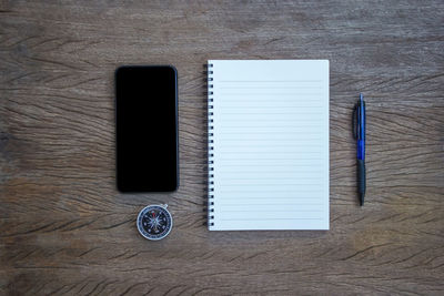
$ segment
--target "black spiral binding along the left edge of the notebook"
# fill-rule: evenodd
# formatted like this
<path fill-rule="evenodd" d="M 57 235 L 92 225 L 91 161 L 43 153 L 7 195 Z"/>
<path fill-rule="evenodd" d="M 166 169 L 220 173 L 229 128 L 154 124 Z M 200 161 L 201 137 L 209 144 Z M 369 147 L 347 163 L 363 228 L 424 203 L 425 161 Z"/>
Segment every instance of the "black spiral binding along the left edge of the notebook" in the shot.
<path fill-rule="evenodd" d="M 213 64 L 206 65 L 208 84 L 208 225 L 214 226 L 214 92 Z"/>

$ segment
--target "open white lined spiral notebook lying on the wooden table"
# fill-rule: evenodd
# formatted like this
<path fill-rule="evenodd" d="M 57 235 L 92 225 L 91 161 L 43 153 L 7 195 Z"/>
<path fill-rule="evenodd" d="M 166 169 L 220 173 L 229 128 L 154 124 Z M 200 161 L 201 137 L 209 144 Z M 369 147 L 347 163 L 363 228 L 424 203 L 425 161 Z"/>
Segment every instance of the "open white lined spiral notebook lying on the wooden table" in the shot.
<path fill-rule="evenodd" d="M 209 229 L 329 229 L 329 61 L 208 62 Z"/>

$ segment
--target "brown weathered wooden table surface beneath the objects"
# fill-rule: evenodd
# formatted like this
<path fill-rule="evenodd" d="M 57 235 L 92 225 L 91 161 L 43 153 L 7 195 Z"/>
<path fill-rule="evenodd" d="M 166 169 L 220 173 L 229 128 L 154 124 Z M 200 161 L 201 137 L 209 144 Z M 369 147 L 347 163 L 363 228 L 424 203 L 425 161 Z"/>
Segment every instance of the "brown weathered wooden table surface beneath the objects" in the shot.
<path fill-rule="evenodd" d="M 236 2 L 0 1 L 0 294 L 443 295 L 444 2 Z M 330 60 L 330 231 L 203 226 L 208 59 Z M 163 63 L 181 186 L 120 194 L 113 71 Z M 175 222 L 161 242 L 135 228 L 152 203 Z"/>

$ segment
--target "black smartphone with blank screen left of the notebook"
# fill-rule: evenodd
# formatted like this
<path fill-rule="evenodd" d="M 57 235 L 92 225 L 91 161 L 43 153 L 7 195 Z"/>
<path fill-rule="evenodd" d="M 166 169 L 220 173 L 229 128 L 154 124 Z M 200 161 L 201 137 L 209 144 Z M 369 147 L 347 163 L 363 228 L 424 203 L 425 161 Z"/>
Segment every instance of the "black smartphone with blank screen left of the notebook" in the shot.
<path fill-rule="evenodd" d="M 171 65 L 115 70 L 117 187 L 171 192 L 179 186 L 178 72 Z"/>

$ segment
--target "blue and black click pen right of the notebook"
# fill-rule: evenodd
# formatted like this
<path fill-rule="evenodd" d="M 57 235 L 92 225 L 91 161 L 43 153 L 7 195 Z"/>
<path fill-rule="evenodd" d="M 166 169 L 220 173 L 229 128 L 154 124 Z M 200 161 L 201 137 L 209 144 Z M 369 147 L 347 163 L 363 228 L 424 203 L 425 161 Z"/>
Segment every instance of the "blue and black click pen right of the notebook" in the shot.
<path fill-rule="evenodd" d="M 353 112 L 353 134 L 356 140 L 357 150 L 357 195 L 360 204 L 363 205 L 365 195 L 365 102 L 362 93 Z"/>

